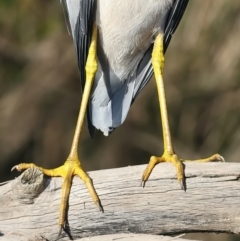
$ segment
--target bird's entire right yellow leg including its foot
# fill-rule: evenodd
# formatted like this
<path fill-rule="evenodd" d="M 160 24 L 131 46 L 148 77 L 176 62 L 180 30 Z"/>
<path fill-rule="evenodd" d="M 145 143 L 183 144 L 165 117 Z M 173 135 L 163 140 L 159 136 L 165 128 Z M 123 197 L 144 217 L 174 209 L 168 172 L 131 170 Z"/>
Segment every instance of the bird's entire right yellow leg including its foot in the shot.
<path fill-rule="evenodd" d="M 163 143 L 164 143 L 164 153 L 161 157 L 152 156 L 150 158 L 149 164 L 145 169 L 141 186 L 145 186 L 146 181 L 148 180 L 153 168 L 156 164 L 160 162 L 172 162 L 177 171 L 177 179 L 180 183 L 180 186 L 183 190 L 186 189 L 185 183 L 185 175 L 183 169 L 183 162 L 187 162 L 190 160 L 179 159 L 175 154 L 171 133 L 168 123 L 168 113 L 167 113 L 167 105 L 166 105 L 166 97 L 164 91 L 164 83 L 163 83 L 163 68 L 164 68 L 164 49 L 163 49 L 163 34 L 159 34 L 154 42 L 153 52 L 152 52 L 152 66 L 155 74 L 157 90 L 158 90 L 158 98 L 160 104 L 160 113 L 162 120 L 162 129 L 163 129 Z M 224 158 L 219 154 L 214 154 L 211 157 L 205 159 L 195 160 L 198 162 L 211 162 L 211 161 L 224 161 Z"/>

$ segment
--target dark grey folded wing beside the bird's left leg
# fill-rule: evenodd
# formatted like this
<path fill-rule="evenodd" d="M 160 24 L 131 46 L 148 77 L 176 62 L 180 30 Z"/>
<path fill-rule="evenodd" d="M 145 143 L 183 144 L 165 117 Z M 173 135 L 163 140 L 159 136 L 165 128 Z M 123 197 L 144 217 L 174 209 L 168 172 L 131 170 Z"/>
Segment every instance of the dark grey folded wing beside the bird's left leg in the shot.
<path fill-rule="evenodd" d="M 85 65 L 94 19 L 95 0 L 60 0 L 60 2 L 63 7 L 68 31 L 73 37 L 83 90 L 86 78 Z M 89 109 L 87 110 L 87 121 L 90 135 L 93 136 L 95 128 L 89 117 Z"/>

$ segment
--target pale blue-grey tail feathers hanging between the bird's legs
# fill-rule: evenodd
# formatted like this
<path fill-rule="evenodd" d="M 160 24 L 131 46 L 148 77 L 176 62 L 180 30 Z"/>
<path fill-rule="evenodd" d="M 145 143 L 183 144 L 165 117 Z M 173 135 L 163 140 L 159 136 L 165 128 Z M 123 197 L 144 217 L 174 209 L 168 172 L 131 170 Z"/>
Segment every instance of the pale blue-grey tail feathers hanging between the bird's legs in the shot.
<path fill-rule="evenodd" d="M 124 122 L 133 101 L 149 82 L 153 74 L 151 52 L 152 46 L 138 64 L 135 73 L 125 80 L 119 80 L 112 70 L 102 70 L 99 62 L 88 106 L 88 120 L 105 136 Z"/>

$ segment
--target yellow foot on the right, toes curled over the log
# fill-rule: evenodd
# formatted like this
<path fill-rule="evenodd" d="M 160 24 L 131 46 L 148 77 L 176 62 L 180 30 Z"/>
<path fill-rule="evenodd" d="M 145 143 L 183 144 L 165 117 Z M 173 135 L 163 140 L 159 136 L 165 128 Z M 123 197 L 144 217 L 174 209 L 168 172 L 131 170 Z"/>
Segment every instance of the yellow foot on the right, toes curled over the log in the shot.
<path fill-rule="evenodd" d="M 180 183 L 181 189 L 186 190 L 185 186 L 185 175 L 184 175 L 184 169 L 183 169 L 183 162 L 190 162 L 191 160 L 183 160 L 179 159 L 176 154 L 169 154 L 164 153 L 161 157 L 152 156 L 150 158 L 150 161 L 147 165 L 147 168 L 143 172 L 141 186 L 145 186 L 146 181 L 148 180 L 153 168 L 160 162 L 172 162 L 173 165 L 176 168 L 177 171 L 177 179 Z M 205 158 L 205 159 L 198 159 L 193 160 L 195 162 L 213 162 L 213 161 L 224 161 L 224 158 L 220 156 L 219 154 L 214 154 L 211 157 Z"/>

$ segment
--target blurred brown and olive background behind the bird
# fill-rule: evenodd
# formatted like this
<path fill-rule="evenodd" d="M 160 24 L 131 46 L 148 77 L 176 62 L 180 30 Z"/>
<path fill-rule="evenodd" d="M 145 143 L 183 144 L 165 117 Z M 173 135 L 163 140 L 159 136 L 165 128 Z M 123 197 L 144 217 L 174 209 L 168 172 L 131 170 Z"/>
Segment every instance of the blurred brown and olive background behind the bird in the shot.
<path fill-rule="evenodd" d="M 195 159 L 218 152 L 238 162 L 240 1 L 190 1 L 167 50 L 164 74 L 178 155 Z M 0 182 L 16 176 L 10 169 L 20 162 L 52 168 L 65 161 L 80 89 L 59 1 L 0 0 Z M 96 131 L 91 139 L 85 125 L 79 150 L 87 171 L 146 164 L 162 151 L 154 80 L 109 137 Z M 237 235 L 197 237 L 240 240 Z"/>

